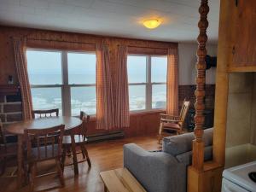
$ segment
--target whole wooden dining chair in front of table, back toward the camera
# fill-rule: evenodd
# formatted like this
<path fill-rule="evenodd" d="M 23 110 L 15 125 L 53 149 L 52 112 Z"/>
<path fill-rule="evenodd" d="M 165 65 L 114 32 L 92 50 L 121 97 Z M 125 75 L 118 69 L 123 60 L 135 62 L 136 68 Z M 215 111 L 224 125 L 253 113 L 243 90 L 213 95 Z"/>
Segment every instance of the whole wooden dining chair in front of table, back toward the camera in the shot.
<path fill-rule="evenodd" d="M 45 129 L 26 129 L 25 139 L 27 148 L 27 160 L 30 175 L 30 191 L 34 189 L 36 177 L 58 174 L 61 186 L 64 186 L 63 172 L 61 169 L 61 150 L 62 139 L 64 135 L 65 125 L 57 125 Z M 56 172 L 45 173 L 37 176 L 37 166 L 39 162 L 45 160 L 55 160 Z"/>

